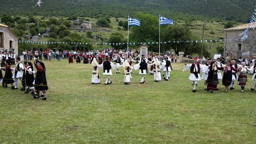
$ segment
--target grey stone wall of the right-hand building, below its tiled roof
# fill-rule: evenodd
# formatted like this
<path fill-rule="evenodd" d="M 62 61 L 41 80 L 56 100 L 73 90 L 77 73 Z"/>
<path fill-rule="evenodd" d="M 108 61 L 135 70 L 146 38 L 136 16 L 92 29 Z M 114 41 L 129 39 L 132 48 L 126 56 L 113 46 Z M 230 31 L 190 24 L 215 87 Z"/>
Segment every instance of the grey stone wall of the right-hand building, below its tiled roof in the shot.
<path fill-rule="evenodd" d="M 256 56 L 256 30 L 249 29 L 248 39 L 244 42 L 238 41 L 241 36 L 238 36 L 244 32 L 244 30 L 230 30 L 226 31 L 226 54 L 232 53 L 232 58 L 236 58 L 238 60 L 239 56 L 242 56 L 244 52 L 250 52 L 250 57 Z M 235 39 L 237 39 L 235 41 Z M 232 40 L 232 41 L 231 41 Z M 241 50 L 238 50 L 238 44 L 241 44 Z M 246 56 L 242 56 L 242 58 L 246 58 Z M 225 58 L 226 60 L 226 58 Z"/>

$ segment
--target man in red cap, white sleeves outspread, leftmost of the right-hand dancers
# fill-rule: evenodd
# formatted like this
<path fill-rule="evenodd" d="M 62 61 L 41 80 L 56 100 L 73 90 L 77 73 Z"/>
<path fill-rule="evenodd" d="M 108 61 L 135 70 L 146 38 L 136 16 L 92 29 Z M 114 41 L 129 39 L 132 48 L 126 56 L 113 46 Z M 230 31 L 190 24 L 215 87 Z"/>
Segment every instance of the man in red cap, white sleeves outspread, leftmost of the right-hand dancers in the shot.
<path fill-rule="evenodd" d="M 183 69 L 183 72 L 190 69 L 190 76 L 189 80 L 192 81 L 192 86 L 194 87 L 192 92 L 196 92 L 196 86 L 198 84 L 198 81 L 201 80 L 200 77 L 200 71 L 202 73 L 206 73 L 208 71 L 208 66 L 203 66 L 201 64 L 198 64 L 197 58 L 194 58 L 194 63 L 193 64 L 186 64 Z"/>

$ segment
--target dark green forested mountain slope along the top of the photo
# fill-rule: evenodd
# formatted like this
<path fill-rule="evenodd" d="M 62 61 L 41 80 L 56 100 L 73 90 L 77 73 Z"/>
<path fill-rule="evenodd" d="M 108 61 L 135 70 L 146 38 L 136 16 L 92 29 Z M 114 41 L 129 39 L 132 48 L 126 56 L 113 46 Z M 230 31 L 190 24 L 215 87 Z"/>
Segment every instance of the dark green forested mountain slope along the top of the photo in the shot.
<path fill-rule="evenodd" d="M 5 0 L 0 13 L 12 15 L 127 17 L 140 11 L 173 19 L 220 18 L 248 22 L 254 0 Z"/>

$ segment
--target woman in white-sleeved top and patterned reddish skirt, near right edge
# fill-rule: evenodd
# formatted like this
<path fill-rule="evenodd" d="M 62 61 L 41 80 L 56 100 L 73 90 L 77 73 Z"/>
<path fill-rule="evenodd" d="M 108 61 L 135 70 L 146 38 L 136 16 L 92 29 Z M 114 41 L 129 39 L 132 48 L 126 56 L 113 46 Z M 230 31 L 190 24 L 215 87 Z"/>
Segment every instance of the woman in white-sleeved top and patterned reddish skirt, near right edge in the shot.
<path fill-rule="evenodd" d="M 247 75 L 246 75 L 247 71 L 250 71 L 250 66 L 246 67 L 245 62 L 242 62 L 242 66 L 238 68 L 239 76 L 237 81 L 237 84 L 242 88 L 241 92 L 244 92 L 244 87 L 247 82 Z"/>

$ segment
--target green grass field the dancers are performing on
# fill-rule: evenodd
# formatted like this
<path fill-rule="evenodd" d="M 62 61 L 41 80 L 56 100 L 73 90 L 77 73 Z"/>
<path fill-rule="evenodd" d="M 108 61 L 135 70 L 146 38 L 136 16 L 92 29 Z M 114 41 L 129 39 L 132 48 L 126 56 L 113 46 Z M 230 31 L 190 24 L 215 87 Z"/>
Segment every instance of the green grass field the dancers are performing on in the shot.
<path fill-rule="evenodd" d="M 47 100 L 24 91 L 0 88 L 1 144 L 255 144 L 256 95 L 252 75 L 245 92 L 216 94 L 203 80 L 192 93 L 189 70 L 172 64 L 169 81 L 133 70 L 131 83 L 115 71 L 111 85 L 100 70 L 101 84 L 91 84 L 90 64 L 49 62 Z M 14 67 L 14 66 L 12 66 Z M 4 71 L 2 71 L 4 74 Z M 21 82 L 19 82 L 19 89 Z"/>

